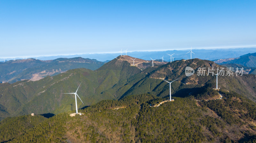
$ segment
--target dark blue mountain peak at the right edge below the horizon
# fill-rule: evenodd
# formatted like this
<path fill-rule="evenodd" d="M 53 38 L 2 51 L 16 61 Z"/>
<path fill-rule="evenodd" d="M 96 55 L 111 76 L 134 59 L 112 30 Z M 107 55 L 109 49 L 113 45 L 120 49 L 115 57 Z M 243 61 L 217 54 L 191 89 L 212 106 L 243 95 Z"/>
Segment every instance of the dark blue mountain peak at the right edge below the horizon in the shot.
<path fill-rule="evenodd" d="M 229 58 L 229 59 L 220 59 L 214 60 L 215 63 L 218 64 L 240 64 L 246 67 L 254 67 L 256 68 L 256 53 L 249 53 L 242 55 L 238 58 Z"/>

